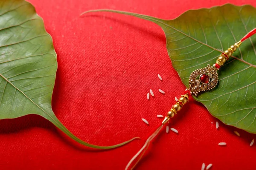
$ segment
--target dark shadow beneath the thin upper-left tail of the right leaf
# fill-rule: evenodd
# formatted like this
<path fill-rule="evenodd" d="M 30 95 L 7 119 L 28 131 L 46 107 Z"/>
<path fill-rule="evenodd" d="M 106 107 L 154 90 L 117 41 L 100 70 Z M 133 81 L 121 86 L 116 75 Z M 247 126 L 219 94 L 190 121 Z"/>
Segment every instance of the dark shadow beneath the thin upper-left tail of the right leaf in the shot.
<path fill-rule="evenodd" d="M 166 43 L 166 37 L 165 37 L 164 33 L 162 33 L 162 34 L 159 34 L 159 33 L 155 34 L 153 31 L 145 30 L 141 26 L 134 25 L 132 23 L 128 23 L 126 21 L 123 21 L 123 20 L 120 20 L 120 19 L 116 19 L 116 18 L 112 18 L 112 17 L 108 17 L 108 16 L 104 16 L 104 15 L 87 14 L 86 16 L 83 16 L 83 18 L 85 18 L 85 17 L 98 17 L 98 18 L 102 18 L 104 20 L 111 20 L 111 21 L 114 21 L 116 23 L 121 23 L 124 26 L 133 28 L 134 30 L 138 31 L 140 34 L 146 34 L 147 36 L 150 35 L 151 37 L 154 37 L 156 40 L 160 40 L 160 41 Z M 154 24 L 154 23 L 152 23 L 152 24 Z"/>

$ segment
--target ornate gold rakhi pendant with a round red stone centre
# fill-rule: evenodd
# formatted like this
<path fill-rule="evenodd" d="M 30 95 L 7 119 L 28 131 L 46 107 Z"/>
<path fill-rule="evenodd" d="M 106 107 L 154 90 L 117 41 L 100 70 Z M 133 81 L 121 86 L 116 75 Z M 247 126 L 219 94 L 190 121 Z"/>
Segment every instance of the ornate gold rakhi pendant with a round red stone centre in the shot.
<path fill-rule="evenodd" d="M 201 91 L 214 88 L 218 83 L 218 73 L 215 67 L 209 64 L 207 67 L 197 69 L 190 74 L 189 88 L 191 93 L 198 95 Z"/>

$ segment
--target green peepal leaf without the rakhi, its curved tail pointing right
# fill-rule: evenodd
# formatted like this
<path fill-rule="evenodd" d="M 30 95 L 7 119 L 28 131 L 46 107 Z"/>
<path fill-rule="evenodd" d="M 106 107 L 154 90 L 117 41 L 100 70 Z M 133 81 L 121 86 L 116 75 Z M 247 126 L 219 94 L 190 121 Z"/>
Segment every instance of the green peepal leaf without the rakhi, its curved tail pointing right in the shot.
<path fill-rule="evenodd" d="M 88 144 L 74 136 L 52 111 L 52 91 L 57 60 L 52 37 L 35 8 L 24 0 L 0 3 L 0 119 L 37 114 L 48 119 L 70 138 L 88 147 L 113 146 Z M 135 139 L 135 138 L 134 138 Z"/>

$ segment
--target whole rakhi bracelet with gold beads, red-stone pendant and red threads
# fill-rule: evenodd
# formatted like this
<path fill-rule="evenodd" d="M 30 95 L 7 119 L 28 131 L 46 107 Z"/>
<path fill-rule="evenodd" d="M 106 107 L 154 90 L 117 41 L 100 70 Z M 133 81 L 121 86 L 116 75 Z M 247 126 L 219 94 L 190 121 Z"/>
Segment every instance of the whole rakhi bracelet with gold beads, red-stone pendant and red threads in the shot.
<path fill-rule="evenodd" d="M 172 106 L 171 110 L 168 111 L 167 115 L 163 119 L 163 122 L 157 126 L 156 130 L 147 138 L 143 147 L 134 155 L 134 157 L 128 162 L 125 167 L 125 170 L 133 169 L 142 159 L 145 151 L 148 149 L 149 144 L 151 144 L 152 140 L 160 133 L 163 129 L 163 126 L 166 125 L 167 122 L 171 118 L 173 118 L 177 112 L 183 108 L 189 102 L 189 96 L 195 95 L 197 96 L 200 92 L 211 90 L 215 88 L 218 84 L 218 70 L 227 62 L 227 60 L 232 56 L 232 54 L 239 48 L 241 43 L 248 39 L 253 34 L 256 34 L 256 28 L 246 34 L 239 42 L 236 42 L 234 45 L 231 45 L 226 51 L 224 51 L 217 59 L 216 63 L 211 65 L 207 65 L 204 68 L 199 68 L 193 71 L 189 77 L 189 88 L 186 88 L 185 93 L 180 96 L 179 99 L 175 98 L 175 104 Z"/>

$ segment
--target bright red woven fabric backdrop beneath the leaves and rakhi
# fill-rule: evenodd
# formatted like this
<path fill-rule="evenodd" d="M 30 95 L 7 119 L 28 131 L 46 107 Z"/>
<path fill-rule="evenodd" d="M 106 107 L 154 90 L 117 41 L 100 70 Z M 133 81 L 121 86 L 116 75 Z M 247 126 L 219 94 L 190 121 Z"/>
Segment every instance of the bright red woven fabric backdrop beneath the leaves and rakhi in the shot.
<path fill-rule="evenodd" d="M 255 0 L 30 0 L 52 35 L 58 71 L 52 99 L 55 114 L 76 136 L 91 144 L 112 145 L 145 137 L 160 123 L 184 85 L 172 68 L 162 29 L 154 23 L 113 13 L 81 12 L 111 8 L 173 19 L 184 11 Z M 161 82 L 157 74 L 163 77 Z M 160 94 L 161 88 L 166 92 Z M 149 89 L 155 97 L 148 101 Z M 191 101 L 175 118 L 179 134 L 163 132 L 139 170 L 255 169 L 255 135 L 216 121 Z M 141 118 L 150 123 L 145 125 Z M 122 170 L 143 145 L 137 140 L 114 150 L 95 152 L 67 138 L 50 122 L 29 115 L 0 121 L 0 169 Z M 227 142 L 226 147 L 218 146 Z"/>

